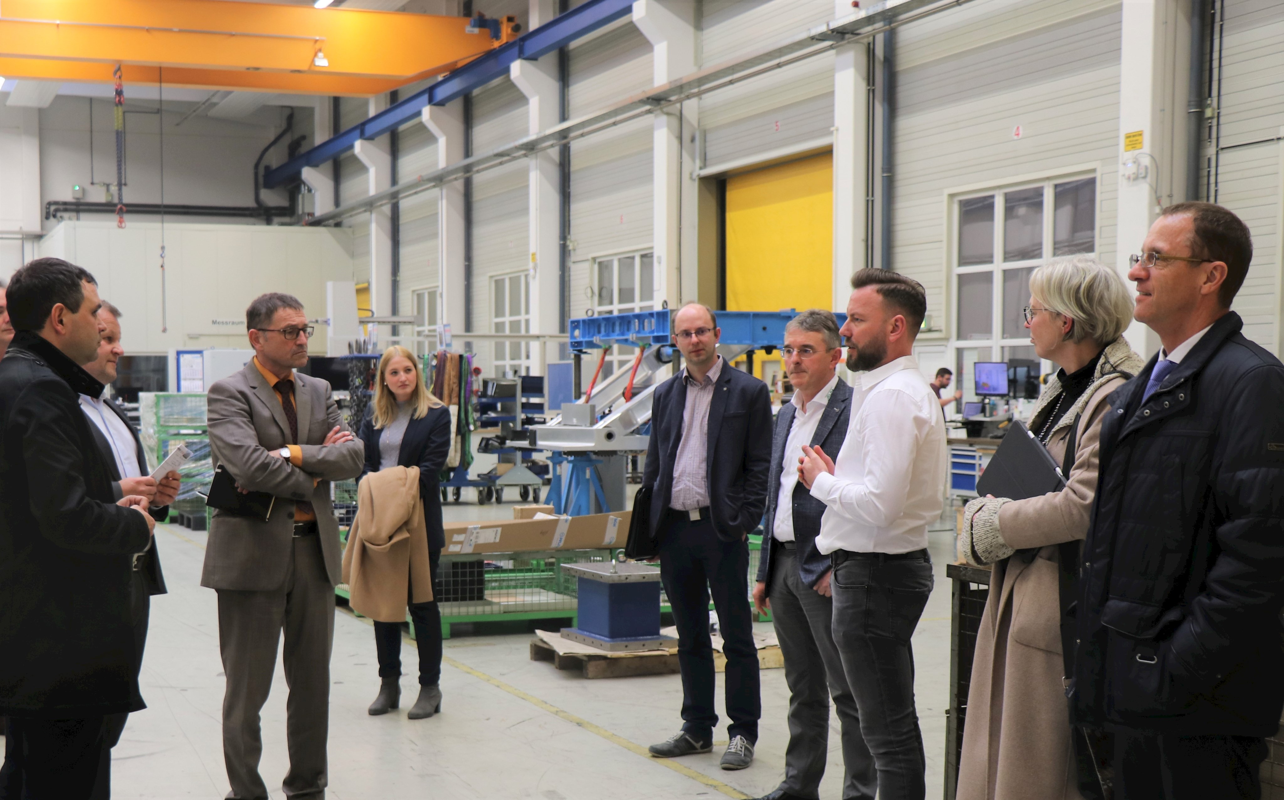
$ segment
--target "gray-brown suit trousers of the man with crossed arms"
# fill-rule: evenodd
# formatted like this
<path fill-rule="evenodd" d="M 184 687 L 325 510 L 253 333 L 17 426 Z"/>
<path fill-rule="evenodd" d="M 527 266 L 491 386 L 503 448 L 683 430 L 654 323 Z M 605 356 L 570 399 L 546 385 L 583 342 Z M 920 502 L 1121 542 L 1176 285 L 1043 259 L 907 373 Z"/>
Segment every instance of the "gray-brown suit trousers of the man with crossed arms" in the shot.
<path fill-rule="evenodd" d="M 263 754 L 259 711 L 272 688 L 281 630 L 290 687 L 285 705 L 290 772 L 281 787 L 286 797 L 325 797 L 334 586 L 315 535 L 294 539 L 294 562 L 280 589 L 218 589 L 218 646 L 227 675 L 223 761 L 232 788 L 227 797 L 232 800 L 267 800 L 258 774 Z"/>

